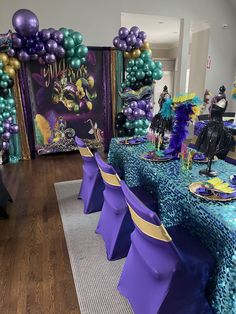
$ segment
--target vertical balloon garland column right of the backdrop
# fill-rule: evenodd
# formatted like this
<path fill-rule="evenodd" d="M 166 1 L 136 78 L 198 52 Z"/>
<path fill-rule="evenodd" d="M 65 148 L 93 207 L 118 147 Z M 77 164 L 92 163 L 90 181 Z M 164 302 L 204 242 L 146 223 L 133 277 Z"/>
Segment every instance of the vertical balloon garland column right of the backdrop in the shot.
<path fill-rule="evenodd" d="M 116 116 L 118 136 L 146 135 L 153 118 L 152 84 L 163 76 L 161 62 L 152 60 L 147 34 L 137 26 L 121 27 L 113 45 L 127 59 L 126 77 L 120 96 L 125 101 L 123 113 Z"/>

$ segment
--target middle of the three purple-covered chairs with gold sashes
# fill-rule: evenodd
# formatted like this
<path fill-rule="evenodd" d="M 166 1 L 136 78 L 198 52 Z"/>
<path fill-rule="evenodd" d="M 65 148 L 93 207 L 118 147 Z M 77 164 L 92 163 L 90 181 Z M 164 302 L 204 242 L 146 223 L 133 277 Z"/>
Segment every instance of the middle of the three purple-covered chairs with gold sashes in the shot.
<path fill-rule="evenodd" d="M 104 181 L 104 203 L 97 225 L 96 233 L 101 234 L 106 246 L 108 260 L 116 260 L 127 256 L 130 248 L 130 234 L 134 224 L 120 186 L 120 178 L 115 169 L 104 162 L 98 153 L 95 153 L 98 167 Z M 143 202 L 157 209 L 158 204 L 153 197 L 141 187 L 132 188 Z"/>

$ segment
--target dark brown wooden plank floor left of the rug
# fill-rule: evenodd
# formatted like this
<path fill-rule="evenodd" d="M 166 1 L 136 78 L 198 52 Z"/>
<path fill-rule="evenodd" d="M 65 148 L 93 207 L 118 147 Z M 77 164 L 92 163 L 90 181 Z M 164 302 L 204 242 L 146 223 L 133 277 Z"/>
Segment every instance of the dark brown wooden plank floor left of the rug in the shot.
<path fill-rule="evenodd" d="M 0 167 L 14 200 L 0 221 L 0 313 L 80 313 L 53 186 L 81 178 L 79 153 Z"/>

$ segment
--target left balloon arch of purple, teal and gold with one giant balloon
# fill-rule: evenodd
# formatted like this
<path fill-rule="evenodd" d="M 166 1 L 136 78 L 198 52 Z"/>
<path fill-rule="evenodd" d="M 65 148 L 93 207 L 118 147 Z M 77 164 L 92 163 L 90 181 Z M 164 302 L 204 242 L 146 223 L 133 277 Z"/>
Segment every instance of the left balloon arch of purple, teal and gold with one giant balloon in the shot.
<path fill-rule="evenodd" d="M 12 25 L 15 33 L 0 35 L 0 151 L 9 149 L 11 135 L 18 132 L 11 88 L 20 62 L 32 60 L 45 66 L 64 58 L 72 69 L 79 69 L 88 54 L 80 32 L 64 27 L 39 31 L 38 18 L 30 10 L 16 11 Z"/>

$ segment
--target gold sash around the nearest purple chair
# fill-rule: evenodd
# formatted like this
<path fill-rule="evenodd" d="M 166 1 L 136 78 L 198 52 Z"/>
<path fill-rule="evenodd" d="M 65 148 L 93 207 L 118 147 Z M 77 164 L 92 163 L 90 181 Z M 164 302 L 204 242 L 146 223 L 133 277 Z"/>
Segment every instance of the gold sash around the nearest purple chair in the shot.
<path fill-rule="evenodd" d="M 160 241 L 164 241 L 164 242 L 172 241 L 170 235 L 168 234 L 163 224 L 161 224 L 160 226 L 156 226 L 144 220 L 142 217 L 136 214 L 136 212 L 133 210 L 133 208 L 129 204 L 128 204 L 128 207 L 129 207 L 129 211 L 130 211 L 133 222 L 144 234 Z"/>

